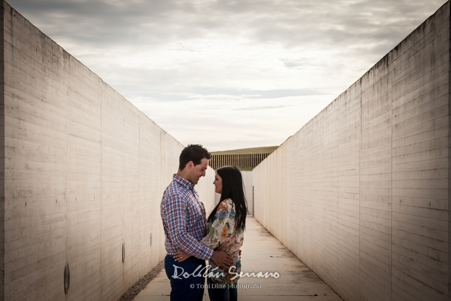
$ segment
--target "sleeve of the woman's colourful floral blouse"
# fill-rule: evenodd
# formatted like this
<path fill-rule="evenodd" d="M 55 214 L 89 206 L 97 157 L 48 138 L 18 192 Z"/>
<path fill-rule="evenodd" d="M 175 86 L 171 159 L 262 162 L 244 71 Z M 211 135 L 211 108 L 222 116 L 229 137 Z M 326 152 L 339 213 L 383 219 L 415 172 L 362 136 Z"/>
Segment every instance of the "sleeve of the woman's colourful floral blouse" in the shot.
<path fill-rule="evenodd" d="M 207 229 L 207 235 L 200 243 L 214 250 L 230 240 L 235 229 L 235 214 L 232 201 L 223 200 L 216 210 L 213 223 Z"/>

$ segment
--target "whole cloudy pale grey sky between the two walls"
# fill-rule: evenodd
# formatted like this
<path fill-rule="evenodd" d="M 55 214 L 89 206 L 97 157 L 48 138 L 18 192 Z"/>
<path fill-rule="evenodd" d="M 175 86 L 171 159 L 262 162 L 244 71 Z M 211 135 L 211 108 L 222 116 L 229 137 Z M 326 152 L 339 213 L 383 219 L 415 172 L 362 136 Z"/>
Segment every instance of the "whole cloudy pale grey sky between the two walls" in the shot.
<path fill-rule="evenodd" d="M 182 144 L 279 145 L 443 0 L 7 0 Z"/>

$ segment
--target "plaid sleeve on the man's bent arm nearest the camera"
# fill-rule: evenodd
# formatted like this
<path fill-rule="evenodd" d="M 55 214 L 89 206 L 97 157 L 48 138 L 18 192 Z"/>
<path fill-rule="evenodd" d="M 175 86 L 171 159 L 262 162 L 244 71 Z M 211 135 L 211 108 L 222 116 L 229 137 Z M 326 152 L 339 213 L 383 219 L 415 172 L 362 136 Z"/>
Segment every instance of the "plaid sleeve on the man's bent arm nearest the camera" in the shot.
<path fill-rule="evenodd" d="M 172 241 L 186 253 L 208 260 L 213 250 L 202 245 L 186 231 L 186 205 L 179 194 L 166 196 L 166 220 L 168 221 L 168 234 Z"/>

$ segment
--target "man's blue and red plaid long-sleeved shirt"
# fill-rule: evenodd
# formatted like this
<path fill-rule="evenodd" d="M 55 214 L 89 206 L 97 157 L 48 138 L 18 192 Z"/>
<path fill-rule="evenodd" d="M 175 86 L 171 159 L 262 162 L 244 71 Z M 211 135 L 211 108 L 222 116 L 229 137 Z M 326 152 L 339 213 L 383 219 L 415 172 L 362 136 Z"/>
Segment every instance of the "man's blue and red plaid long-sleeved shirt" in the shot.
<path fill-rule="evenodd" d="M 160 213 L 167 254 L 174 255 L 180 247 L 194 257 L 210 259 L 213 250 L 199 242 L 206 232 L 205 208 L 191 182 L 174 174 L 163 193 Z"/>

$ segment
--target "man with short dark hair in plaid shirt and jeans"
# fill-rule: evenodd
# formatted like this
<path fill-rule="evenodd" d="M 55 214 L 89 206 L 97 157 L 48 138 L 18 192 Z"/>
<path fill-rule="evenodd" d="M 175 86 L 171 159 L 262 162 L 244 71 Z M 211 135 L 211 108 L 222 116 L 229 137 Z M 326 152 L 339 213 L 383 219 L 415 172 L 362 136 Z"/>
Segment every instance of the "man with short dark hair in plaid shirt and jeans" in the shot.
<path fill-rule="evenodd" d="M 172 182 L 161 200 L 160 213 L 167 252 L 164 268 L 171 282 L 171 301 L 202 300 L 205 278 L 198 273 L 205 271 L 205 260 L 222 266 L 234 264 L 229 253 L 213 251 L 199 243 L 206 234 L 205 208 L 194 185 L 205 176 L 209 159 L 210 154 L 202 145 L 186 146 L 180 154 L 177 174 L 172 176 Z M 175 261 L 173 255 L 179 248 L 192 256 L 183 262 Z M 185 275 L 189 276 L 185 278 Z"/>

